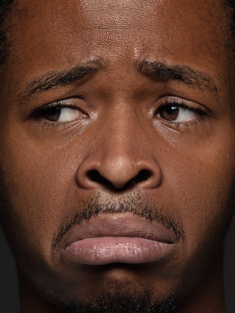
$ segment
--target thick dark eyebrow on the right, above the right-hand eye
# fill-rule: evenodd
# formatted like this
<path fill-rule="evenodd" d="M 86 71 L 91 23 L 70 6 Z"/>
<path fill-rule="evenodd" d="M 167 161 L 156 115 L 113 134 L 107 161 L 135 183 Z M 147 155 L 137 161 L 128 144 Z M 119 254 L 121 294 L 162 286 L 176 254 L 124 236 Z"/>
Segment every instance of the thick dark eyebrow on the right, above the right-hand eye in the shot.
<path fill-rule="evenodd" d="M 163 81 L 177 80 L 193 88 L 217 93 L 216 84 L 208 74 L 187 65 L 168 65 L 144 58 L 136 63 L 136 67 L 143 75 Z"/>

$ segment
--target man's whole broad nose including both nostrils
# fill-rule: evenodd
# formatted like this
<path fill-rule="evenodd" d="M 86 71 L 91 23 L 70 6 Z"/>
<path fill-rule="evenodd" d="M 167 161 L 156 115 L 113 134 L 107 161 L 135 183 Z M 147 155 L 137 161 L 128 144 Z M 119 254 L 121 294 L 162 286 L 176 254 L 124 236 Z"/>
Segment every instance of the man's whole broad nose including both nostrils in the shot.
<path fill-rule="evenodd" d="M 145 148 L 142 139 L 126 127 L 104 130 L 76 170 L 78 186 L 85 189 L 157 187 L 162 179 L 161 169 L 157 160 L 150 156 L 149 143 Z"/>

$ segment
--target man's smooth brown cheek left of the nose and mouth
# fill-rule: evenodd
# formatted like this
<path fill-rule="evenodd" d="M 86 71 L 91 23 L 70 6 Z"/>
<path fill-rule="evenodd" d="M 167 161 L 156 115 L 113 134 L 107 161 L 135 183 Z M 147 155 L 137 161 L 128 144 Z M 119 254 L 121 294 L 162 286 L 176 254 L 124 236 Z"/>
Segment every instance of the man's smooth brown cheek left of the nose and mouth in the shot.
<path fill-rule="evenodd" d="M 20 257 L 34 251 L 35 258 L 49 261 L 53 234 L 74 205 L 75 162 L 65 152 L 28 142 L 8 144 L 0 156 L 1 218 L 12 250 Z"/>

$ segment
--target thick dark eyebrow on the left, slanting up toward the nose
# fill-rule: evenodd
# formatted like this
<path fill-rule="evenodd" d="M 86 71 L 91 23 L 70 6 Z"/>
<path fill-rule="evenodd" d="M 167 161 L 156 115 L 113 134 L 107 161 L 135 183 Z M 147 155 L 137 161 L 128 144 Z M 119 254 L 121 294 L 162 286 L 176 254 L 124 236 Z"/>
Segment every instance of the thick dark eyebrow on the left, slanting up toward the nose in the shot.
<path fill-rule="evenodd" d="M 83 80 L 101 68 L 103 68 L 103 61 L 101 59 L 92 59 L 70 69 L 48 71 L 32 78 L 27 83 L 24 91 L 20 94 L 20 100 L 25 100 L 38 92 L 49 90 L 59 85 Z"/>

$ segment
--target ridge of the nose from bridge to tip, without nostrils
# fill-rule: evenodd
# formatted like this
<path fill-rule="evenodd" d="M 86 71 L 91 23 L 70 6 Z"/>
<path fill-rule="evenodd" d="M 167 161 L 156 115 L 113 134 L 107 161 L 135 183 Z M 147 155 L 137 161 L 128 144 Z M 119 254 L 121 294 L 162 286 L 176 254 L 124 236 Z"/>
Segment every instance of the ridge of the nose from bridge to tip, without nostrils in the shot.
<path fill-rule="evenodd" d="M 122 187 L 138 175 L 144 166 L 143 132 L 138 116 L 128 108 L 117 108 L 110 114 L 99 146 L 99 173 L 115 187 Z"/>

